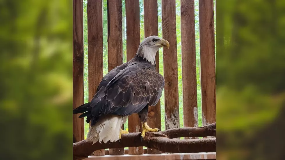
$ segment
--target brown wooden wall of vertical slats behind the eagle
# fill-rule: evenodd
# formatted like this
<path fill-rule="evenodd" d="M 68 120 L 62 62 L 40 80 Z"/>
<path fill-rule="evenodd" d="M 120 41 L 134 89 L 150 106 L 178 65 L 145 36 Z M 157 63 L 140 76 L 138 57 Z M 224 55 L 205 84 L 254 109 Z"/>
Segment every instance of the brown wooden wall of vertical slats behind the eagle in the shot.
<path fill-rule="evenodd" d="M 157 5 L 157 0 L 144 0 L 145 37 L 158 35 Z M 125 6 L 128 61 L 136 54 L 140 44 L 139 0 L 125 0 Z M 181 0 L 184 127 L 198 126 L 198 116 L 202 116 L 203 126 L 216 121 L 213 7 L 213 0 L 199 0 L 202 115 L 198 115 L 194 1 Z M 103 78 L 102 0 L 88 0 L 87 9 L 88 79 L 89 100 L 91 100 Z M 166 129 L 179 127 L 175 12 L 175 0 L 162 0 L 162 38 L 169 41 L 170 48 L 163 50 L 163 53 L 157 53 L 156 70 L 159 71 L 158 54 L 163 54 Z M 108 0 L 108 70 L 110 71 L 122 63 L 122 0 Z M 83 102 L 83 1 L 73 0 L 73 108 L 82 105 Z M 148 125 L 151 128 L 161 130 L 160 102 L 149 110 L 148 116 Z M 142 124 L 137 114 L 129 116 L 128 125 L 129 132 L 140 132 L 142 130 Z M 73 115 L 73 134 L 78 141 L 84 139 L 84 119 L 79 119 L 78 115 Z M 145 153 L 160 154 L 161 152 L 151 148 L 144 150 L 143 147 L 133 147 L 129 150 L 124 150 L 124 148 L 99 150 L 94 155 L 135 155 Z M 215 156 L 211 159 L 215 159 Z"/>

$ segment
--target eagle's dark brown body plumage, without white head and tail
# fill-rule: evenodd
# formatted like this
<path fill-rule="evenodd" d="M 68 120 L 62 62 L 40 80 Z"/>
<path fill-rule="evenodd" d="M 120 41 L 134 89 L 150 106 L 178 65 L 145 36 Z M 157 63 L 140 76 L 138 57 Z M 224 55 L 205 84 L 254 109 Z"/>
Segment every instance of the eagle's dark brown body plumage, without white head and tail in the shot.
<path fill-rule="evenodd" d="M 142 122 L 147 120 L 148 106 L 154 106 L 161 97 L 164 78 L 155 66 L 135 56 L 111 70 L 100 82 L 90 103 L 73 112 L 85 113 L 87 123 L 95 125 L 100 116 L 114 114 L 128 116 L 138 113 Z"/>

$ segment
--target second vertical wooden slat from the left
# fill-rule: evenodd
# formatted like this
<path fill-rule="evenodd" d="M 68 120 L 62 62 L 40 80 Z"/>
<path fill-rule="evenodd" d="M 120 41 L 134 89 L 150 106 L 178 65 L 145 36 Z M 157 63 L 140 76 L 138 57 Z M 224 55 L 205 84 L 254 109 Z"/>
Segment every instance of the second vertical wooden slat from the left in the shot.
<path fill-rule="evenodd" d="M 88 89 L 89 101 L 103 78 L 103 20 L 102 0 L 87 1 L 88 20 Z M 105 155 L 105 150 L 97 150 L 94 155 Z"/>

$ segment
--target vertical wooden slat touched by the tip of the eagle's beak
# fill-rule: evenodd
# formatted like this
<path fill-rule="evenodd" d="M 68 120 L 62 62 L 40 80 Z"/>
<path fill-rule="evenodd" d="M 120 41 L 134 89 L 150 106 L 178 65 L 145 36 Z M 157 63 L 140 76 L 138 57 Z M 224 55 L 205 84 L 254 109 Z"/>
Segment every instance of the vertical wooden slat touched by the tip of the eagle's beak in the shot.
<path fill-rule="evenodd" d="M 163 49 L 165 79 L 165 129 L 179 127 L 176 13 L 174 0 L 162 0 L 162 35 L 170 47 Z"/>

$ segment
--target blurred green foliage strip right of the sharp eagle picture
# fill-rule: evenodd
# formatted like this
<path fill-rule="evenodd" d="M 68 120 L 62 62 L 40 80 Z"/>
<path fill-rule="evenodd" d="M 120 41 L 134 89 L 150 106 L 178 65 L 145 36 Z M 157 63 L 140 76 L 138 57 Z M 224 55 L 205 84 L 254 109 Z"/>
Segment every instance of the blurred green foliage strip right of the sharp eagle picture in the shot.
<path fill-rule="evenodd" d="M 284 159 L 285 1 L 217 3 L 217 159 Z"/>

